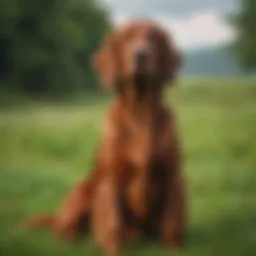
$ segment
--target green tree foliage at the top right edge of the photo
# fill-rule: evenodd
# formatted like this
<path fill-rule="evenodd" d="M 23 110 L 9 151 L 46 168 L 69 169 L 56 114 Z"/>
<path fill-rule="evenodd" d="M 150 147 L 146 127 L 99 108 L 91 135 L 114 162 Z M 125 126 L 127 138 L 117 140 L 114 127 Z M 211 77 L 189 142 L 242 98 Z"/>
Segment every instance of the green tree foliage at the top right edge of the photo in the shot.
<path fill-rule="evenodd" d="M 235 49 L 242 68 L 250 71 L 256 68 L 256 1 L 243 0 L 242 3 L 241 13 L 233 17 L 239 31 Z"/>

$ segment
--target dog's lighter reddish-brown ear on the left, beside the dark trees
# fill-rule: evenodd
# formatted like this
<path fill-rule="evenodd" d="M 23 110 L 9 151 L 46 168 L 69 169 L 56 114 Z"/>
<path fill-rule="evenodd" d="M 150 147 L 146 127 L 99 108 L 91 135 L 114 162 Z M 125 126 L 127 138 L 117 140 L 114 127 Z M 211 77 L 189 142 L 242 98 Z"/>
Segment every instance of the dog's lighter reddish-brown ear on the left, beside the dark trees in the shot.
<path fill-rule="evenodd" d="M 93 54 L 92 66 L 99 74 L 100 81 L 105 88 L 111 88 L 117 80 L 116 36 L 112 33 L 106 36 L 102 47 Z"/>

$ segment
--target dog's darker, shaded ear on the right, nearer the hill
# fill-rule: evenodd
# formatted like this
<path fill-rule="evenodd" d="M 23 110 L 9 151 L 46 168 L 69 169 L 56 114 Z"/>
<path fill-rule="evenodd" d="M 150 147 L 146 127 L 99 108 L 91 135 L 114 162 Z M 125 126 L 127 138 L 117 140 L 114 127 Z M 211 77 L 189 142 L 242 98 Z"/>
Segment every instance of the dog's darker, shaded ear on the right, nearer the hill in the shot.
<path fill-rule="evenodd" d="M 182 65 L 182 56 L 172 38 L 166 32 L 160 38 L 160 74 L 164 83 L 173 82 Z"/>

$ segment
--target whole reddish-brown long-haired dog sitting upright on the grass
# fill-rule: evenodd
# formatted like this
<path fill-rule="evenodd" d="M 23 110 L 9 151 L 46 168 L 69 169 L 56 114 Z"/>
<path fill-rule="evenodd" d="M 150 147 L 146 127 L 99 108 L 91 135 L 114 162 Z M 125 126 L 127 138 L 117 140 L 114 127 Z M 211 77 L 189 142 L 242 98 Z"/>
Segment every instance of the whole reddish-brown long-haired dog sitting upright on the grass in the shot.
<path fill-rule="evenodd" d="M 109 255 L 142 237 L 180 249 L 187 229 L 186 182 L 175 115 L 163 94 L 175 83 L 181 55 L 158 24 L 134 20 L 106 36 L 92 64 L 103 87 L 116 95 L 94 169 L 59 213 L 26 226 L 51 227 L 66 239 L 90 231 Z"/>

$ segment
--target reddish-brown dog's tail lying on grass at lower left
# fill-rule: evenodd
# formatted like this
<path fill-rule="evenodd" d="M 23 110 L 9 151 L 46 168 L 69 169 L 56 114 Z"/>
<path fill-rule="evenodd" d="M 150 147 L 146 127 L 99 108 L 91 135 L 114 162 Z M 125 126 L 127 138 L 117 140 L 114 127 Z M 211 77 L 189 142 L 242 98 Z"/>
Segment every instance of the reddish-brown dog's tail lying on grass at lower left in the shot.
<path fill-rule="evenodd" d="M 41 215 L 30 218 L 20 224 L 25 229 L 52 229 L 56 223 L 56 216 Z"/>

